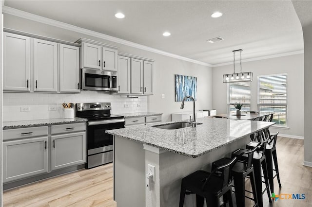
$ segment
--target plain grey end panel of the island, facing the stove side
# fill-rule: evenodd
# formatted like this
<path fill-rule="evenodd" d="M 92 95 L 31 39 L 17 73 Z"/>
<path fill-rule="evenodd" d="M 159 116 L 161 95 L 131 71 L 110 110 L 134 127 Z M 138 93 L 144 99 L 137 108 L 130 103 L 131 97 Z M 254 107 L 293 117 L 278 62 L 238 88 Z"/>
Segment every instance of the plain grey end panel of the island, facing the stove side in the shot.
<path fill-rule="evenodd" d="M 117 207 L 145 207 L 143 144 L 115 136 L 114 200 Z"/>

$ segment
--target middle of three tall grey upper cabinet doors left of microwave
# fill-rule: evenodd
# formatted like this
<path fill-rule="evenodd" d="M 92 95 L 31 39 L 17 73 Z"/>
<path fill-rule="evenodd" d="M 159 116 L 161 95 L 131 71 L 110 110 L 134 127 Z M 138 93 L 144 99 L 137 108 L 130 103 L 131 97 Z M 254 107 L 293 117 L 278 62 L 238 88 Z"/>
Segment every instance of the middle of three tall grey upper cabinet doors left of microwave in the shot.
<path fill-rule="evenodd" d="M 34 91 L 57 92 L 58 43 L 34 39 Z"/>

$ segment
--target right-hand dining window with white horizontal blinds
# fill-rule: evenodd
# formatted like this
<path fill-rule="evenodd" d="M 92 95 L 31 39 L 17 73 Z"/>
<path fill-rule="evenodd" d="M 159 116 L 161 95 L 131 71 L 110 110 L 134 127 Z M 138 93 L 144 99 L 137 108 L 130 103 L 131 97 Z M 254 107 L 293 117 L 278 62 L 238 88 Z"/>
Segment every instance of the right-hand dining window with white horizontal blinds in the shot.
<path fill-rule="evenodd" d="M 276 124 L 287 124 L 287 74 L 258 76 L 258 109 L 274 113 Z"/>

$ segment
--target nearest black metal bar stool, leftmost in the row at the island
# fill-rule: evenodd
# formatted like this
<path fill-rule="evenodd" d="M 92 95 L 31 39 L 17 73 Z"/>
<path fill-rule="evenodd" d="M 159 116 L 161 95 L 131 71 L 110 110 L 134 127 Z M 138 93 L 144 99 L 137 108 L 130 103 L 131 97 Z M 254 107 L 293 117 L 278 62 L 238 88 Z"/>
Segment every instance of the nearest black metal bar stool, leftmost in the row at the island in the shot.
<path fill-rule="evenodd" d="M 196 194 L 196 207 L 203 207 L 204 198 L 206 198 L 207 207 L 219 207 L 222 195 L 224 205 L 229 202 L 229 206 L 233 207 L 231 169 L 236 160 L 237 158 L 234 157 L 211 173 L 196 171 L 182 178 L 179 207 L 183 207 L 185 194 L 191 193 Z M 218 171 L 224 173 L 219 174 Z"/>

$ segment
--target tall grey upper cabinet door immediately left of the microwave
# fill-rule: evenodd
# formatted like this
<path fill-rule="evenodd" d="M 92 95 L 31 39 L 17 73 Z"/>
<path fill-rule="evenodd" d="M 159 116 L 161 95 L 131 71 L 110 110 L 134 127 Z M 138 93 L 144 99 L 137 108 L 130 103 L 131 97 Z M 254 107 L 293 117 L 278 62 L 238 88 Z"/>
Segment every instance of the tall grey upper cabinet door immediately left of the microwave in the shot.
<path fill-rule="evenodd" d="M 59 45 L 59 91 L 79 93 L 79 48 Z"/>

